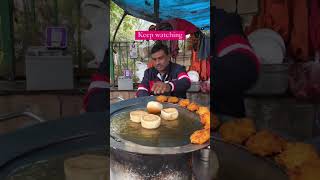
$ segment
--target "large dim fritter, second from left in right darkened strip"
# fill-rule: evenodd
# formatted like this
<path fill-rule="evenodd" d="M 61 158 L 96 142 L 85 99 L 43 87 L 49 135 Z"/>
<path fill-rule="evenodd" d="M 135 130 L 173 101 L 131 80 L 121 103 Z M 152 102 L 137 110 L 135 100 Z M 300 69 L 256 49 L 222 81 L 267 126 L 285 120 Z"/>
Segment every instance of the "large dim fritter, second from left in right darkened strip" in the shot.
<path fill-rule="evenodd" d="M 260 156 L 269 156 L 280 153 L 286 145 L 284 139 L 270 131 L 263 130 L 251 136 L 246 142 L 248 150 Z"/>

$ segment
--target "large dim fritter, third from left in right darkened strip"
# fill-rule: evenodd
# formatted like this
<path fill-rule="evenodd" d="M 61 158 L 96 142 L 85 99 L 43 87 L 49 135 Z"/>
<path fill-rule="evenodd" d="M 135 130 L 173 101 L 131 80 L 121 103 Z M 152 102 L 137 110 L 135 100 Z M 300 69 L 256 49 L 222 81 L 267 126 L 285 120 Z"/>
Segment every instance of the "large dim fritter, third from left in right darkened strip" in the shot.
<path fill-rule="evenodd" d="M 287 143 L 284 151 L 275 157 L 278 164 L 288 170 L 302 165 L 303 163 L 319 158 L 315 147 L 305 143 Z"/>

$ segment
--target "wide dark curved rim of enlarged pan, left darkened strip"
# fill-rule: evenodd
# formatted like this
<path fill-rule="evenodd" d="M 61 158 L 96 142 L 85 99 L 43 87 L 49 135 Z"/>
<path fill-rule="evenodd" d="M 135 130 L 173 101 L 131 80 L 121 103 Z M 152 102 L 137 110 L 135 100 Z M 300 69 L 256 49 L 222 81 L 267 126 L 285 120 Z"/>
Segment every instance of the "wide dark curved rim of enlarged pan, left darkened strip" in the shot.
<path fill-rule="evenodd" d="M 58 156 L 86 152 L 107 154 L 108 117 L 108 113 L 87 113 L 0 136 L 0 179 L 5 180 L 23 167 Z"/>

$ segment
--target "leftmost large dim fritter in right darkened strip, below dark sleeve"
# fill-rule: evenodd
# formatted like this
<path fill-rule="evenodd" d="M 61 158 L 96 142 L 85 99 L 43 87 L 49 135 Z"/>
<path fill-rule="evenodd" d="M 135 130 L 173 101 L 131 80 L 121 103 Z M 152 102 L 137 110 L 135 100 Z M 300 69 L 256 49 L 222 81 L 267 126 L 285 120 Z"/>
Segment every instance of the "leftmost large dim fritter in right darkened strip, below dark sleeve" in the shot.
<path fill-rule="evenodd" d="M 227 142 L 242 144 L 256 132 L 254 123 L 250 119 L 236 119 L 221 125 L 219 132 Z"/>

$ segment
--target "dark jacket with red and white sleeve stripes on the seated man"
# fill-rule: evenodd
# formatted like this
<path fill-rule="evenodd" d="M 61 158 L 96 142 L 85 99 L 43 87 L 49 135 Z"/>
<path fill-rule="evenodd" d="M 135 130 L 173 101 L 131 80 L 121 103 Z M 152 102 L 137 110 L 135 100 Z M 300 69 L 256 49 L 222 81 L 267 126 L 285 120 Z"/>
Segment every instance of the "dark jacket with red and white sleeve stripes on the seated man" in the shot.
<path fill-rule="evenodd" d="M 147 69 L 144 72 L 143 80 L 139 84 L 137 97 L 153 95 L 151 88 L 157 81 L 168 83 L 171 86 L 171 92 L 164 95 L 187 98 L 187 90 L 191 86 L 191 81 L 184 66 L 170 62 L 167 73 L 163 77 L 154 67 Z"/>

